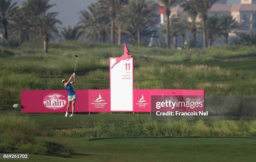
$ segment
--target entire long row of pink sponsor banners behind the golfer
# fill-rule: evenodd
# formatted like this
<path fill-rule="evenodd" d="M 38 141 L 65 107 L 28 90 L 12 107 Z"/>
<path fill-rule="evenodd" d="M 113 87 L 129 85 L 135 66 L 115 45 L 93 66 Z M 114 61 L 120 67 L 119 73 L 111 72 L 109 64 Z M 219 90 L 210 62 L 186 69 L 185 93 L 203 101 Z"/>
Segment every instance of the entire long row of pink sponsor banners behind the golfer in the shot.
<path fill-rule="evenodd" d="M 75 112 L 110 112 L 110 90 L 75 90 L 77 93 Z M 181 101 L 201 101 L 202 107 L 180 111 L 204 110 L 204 90 L 133 90 L 133 111 L 151 112 L 151 97 L 156 102 L 164 98 L 177 98 Z M 32 90 L 21 91 L 21 112 L 66 112 L 67 90 Z M 164 110 L 164 107 L 161 109 Z M 72 106 L 69 111 L 72 111 Z M 120 111 L 122 112 L 122 111 Z"/>

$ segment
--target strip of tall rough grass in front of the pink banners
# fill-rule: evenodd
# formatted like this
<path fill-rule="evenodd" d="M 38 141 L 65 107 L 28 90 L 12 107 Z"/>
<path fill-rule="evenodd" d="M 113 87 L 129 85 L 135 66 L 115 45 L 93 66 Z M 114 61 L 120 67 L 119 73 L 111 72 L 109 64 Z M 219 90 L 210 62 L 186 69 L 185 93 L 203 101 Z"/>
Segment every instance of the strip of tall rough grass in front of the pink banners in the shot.
<path fill-rule="evenodd" d="M 55 130 L 57 137 L 255 137 L 255 121 L 94 121 L 82 128 Z"/>

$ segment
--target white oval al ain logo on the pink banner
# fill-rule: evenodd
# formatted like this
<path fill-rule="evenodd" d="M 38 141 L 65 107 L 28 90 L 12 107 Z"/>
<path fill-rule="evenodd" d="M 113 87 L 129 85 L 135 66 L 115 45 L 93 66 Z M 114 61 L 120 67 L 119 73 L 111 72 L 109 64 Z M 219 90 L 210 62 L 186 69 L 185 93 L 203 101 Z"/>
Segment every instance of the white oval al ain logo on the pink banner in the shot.
<path fill-rule="evenodd" d="M 67 99 L 63 95 L 56 93 L 45 96 L 43 102 L 46 108 L 58 110 L 66 105 Z"/>

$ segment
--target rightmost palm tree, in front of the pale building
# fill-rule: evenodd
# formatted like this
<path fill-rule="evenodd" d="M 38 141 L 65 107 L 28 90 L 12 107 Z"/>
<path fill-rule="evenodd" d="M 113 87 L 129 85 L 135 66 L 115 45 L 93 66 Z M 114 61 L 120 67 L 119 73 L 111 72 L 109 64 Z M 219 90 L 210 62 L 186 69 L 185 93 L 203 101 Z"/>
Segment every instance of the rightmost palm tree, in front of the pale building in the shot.
<path fill-rule="evenodd" d="M 220 15 L 220 30 L 222 32 L 223 37 L 225 38 L 226 44 L 228 44 L 228 33 L 232 30 L 238 29 L 239 24 L 232 15 Z"/>

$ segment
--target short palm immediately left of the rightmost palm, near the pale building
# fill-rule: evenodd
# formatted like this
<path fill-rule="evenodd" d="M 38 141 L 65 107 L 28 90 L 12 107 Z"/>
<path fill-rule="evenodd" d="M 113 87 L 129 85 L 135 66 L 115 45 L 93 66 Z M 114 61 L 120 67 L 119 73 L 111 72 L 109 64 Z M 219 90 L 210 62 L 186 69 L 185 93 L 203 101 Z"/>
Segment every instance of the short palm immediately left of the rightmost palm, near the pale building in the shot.
<path fill-rule="evenodd" d="M 207 38 L 208 38 L 208 47 L 212 46 L 212 40 L 214 37 L 220 35 L 220 19 L 217 16 L 211 16 L 206 20 L 207 26 Z"/>

